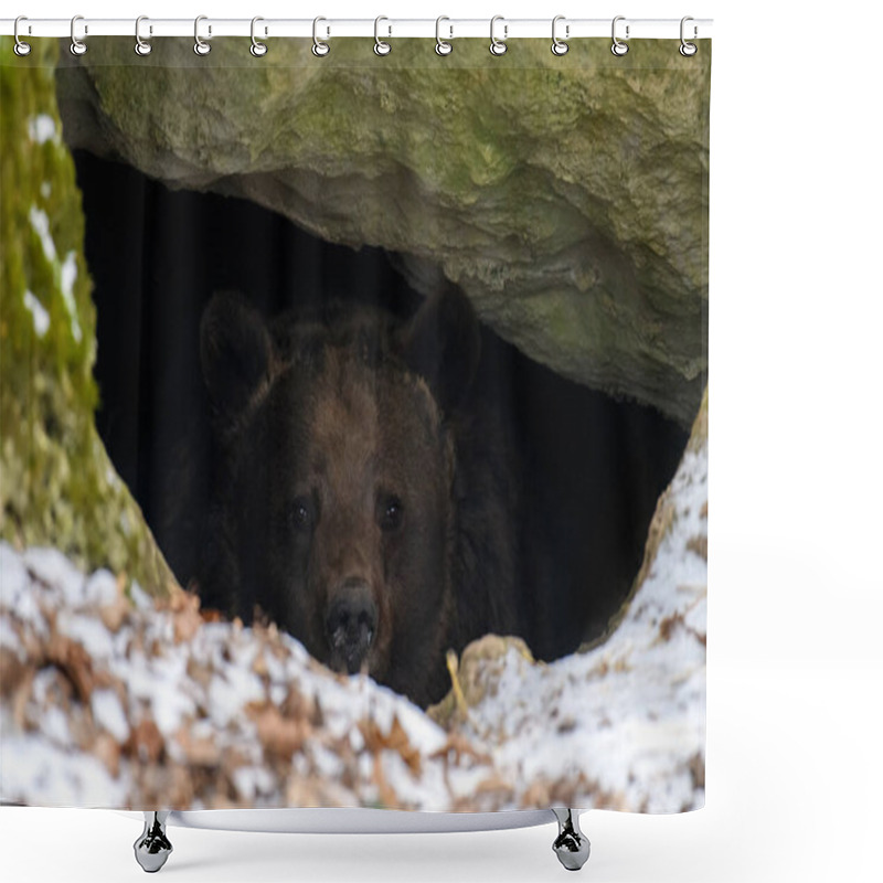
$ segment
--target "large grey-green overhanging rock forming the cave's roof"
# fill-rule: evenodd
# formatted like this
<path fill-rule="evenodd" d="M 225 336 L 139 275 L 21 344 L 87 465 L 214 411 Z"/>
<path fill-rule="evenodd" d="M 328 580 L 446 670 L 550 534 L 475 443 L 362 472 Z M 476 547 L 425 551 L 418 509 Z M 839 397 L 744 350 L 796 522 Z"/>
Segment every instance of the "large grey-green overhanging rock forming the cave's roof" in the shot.
<path fill-rule="evenodd" d="M 689 426 L 706 372 L 711 46 L 102 39 L 58 73 L 70 143 L 444 274 L 558 373 Z"/>

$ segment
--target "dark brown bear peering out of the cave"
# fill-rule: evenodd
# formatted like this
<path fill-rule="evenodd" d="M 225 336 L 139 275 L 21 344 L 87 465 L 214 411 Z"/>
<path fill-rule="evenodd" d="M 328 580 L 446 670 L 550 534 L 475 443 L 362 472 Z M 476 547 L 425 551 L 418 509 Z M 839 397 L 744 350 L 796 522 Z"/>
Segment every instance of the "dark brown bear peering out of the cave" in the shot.
<path fill-rule="evenodd" d="M 334 301 L 268 323 L 215 295 L 203 603 L 245 623 L 257 605 L 330 668 L 424 706 L 450 685 L 448 648 L 520 631 L 519 494 L 474 383 L 480 340 L 453 287 L 407 320 Z"/>

